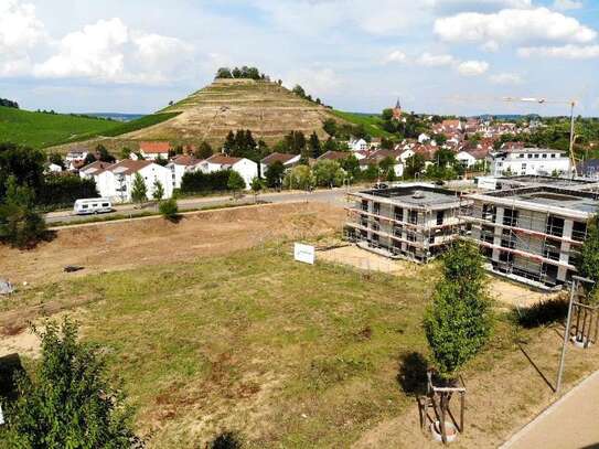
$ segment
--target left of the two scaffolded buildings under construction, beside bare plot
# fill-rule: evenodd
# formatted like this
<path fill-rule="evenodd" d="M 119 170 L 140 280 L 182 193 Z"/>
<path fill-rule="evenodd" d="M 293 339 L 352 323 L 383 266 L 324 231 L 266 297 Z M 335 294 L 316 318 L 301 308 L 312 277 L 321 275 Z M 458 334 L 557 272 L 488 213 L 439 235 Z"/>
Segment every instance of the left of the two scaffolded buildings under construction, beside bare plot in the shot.
<path fill-rule="evenodd" d="M 345 234 L 377 253 L 427 263 L 459 237 L 460 209 L 471 204 L 459 192 L 431 184 L 405 184 L 350 194 Z"/>

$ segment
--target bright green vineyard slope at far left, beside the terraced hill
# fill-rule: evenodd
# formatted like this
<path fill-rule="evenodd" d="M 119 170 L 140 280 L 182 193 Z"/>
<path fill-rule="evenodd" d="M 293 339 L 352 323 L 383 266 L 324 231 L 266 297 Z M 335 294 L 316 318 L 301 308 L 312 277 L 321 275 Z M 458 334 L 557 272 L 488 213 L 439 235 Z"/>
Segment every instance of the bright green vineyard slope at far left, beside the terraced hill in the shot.
<path fill-rule="evenodd" d="M 121 125 L 98 118 L 32 113 L 0 106 L 0 141 L 35 148 L 88 139 Z"/>

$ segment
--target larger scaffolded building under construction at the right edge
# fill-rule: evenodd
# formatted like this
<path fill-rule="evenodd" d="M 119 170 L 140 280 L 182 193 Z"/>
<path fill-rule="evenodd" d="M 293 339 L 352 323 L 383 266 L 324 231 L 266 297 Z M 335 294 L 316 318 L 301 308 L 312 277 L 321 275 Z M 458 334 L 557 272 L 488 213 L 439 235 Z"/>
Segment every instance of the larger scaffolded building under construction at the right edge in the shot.
<path fill-rule="evenodd" d="M 590 191 L 532 185 L 469 195 L 464 215 L 495 272 L 536 287 L 566 282 L 576 271 L 587 222 L 599 207 Z"/>

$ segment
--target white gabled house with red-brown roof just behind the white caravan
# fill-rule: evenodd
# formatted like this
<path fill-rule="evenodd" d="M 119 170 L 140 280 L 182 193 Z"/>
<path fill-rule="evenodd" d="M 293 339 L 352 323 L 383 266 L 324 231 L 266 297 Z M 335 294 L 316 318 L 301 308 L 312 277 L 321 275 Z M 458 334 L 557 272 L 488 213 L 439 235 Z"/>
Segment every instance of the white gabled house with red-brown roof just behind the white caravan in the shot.
<path fill-rule="evenodd" d="M 101 197 L 108 197 L 116 203 L 131 201 L 136 173 L 139 173 L 146 183 L 148 199 L 153 196 L 157 180 L 160 181 L 164 189 L 163 197 L 168 199 L 172 196 L 171 171 L 158 163 L 133 161 L 130 159 L 108 164 L 107 167 L 97 163 L 94 162 L 84 167 L 79 175 L 82 178 L 93 178 L 96 181 L 96 189 Z"/>

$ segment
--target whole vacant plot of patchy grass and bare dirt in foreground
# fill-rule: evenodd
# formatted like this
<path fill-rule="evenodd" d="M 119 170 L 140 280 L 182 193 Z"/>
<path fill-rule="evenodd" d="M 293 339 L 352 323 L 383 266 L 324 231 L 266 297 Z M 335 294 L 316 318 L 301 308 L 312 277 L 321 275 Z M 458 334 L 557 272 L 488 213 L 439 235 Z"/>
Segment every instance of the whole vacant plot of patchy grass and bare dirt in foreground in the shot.
<path fill-rule="evenodd" d="M 223 430 L 249 448 L 438 447 L 415 403 L 437 271 L 292 260 L 289 239 L 331 235 L 341 218 L 317 204 L 246 207 L 2 248 L 0 272 L 30 284 L 0 302 L 0 354 L 29 363 L 25 320 L 74 314 L 107 349 L 150 447 L 203 447 Z M 86 269 L 62 272 L 77 263 Z M 496 447 L 553 399 L 560 332 L 500 316 L 491 348 L 464 373 L 467 432 L 454 447 Z M 568 352 L 566 389 L 599 367 L 597 353 Z"/>

